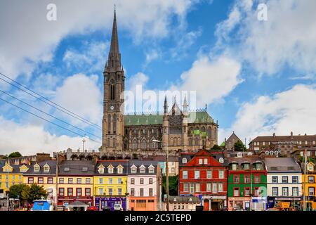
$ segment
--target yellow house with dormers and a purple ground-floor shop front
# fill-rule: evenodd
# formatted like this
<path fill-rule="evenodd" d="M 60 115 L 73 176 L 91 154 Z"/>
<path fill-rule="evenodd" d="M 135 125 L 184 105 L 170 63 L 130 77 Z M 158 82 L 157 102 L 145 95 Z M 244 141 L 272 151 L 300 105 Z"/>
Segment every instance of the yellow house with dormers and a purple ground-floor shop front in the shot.
<path fill-rule="evenodd" d="M 114 204 L 126 210 L 127 160 L 100 160 L 93 177 L 94 205 L 98 210 L 114 209 Z"/>

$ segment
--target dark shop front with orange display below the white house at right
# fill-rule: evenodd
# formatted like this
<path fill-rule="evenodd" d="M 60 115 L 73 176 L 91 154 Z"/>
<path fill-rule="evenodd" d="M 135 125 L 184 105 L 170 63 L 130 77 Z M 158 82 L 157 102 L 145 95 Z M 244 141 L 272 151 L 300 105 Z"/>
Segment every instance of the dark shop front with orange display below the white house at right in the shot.
<path fill-rule="evenodd" d="M 268 197 L 268 209 L 278 208 L 284 211 L 298 211 L 301 197 Z"/>

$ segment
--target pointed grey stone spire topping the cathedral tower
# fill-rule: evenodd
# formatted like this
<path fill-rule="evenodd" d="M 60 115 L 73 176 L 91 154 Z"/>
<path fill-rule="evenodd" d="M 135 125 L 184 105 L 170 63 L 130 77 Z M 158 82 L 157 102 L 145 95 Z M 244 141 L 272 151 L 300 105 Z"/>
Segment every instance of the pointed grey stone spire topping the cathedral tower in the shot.
<path fill-rule="evenodd" d="M 107 58 L 107 67 L 105 69 L 111 72 L 117 72 L 121 70 L 121 54 L 119 53 L 119 35 L 117 34 L 117 11 L 115 9 L 110 52 Z"/>

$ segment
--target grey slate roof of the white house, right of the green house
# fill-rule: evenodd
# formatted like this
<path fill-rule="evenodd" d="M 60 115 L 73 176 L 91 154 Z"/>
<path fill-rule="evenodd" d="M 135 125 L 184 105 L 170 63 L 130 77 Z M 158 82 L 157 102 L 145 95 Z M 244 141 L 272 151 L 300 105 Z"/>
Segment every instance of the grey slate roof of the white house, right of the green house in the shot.
<path fill-rule="evenodd" d="M 268 172 L 301 172 L 294 158 L 265 158 Z"/>

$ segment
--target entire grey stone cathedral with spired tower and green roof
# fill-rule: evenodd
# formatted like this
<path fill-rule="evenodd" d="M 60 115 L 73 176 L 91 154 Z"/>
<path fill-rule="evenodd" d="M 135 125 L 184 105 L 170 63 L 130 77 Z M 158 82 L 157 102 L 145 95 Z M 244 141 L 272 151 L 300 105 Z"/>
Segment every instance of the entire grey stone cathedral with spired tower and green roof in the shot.
<path fill-rule="evenodd" d="M 110 52 L 103 75 L 103 155 L 164 153 L 167 149 L 176 155 L 217 144 L 218 122 L 214 122 L 206 109 L 188 111 L 186 98 L 182 105 L 178 105 L 174 98 L 170 110 L 165 98 L 164 113 L 124 115 L 121 93 L 125 89 L 125 75 L 115 11 Z"/>

